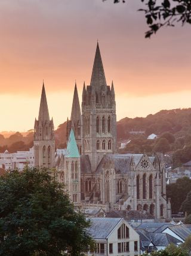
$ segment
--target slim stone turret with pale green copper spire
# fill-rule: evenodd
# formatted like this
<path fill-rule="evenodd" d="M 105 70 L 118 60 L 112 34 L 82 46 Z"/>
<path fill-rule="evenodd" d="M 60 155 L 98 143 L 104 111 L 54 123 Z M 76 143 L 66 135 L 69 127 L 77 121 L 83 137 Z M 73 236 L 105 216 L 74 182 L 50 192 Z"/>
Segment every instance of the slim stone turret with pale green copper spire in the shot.
<path fill-rule="evenodd" d="M 69 193 L 70 200 L 78 204 L 81 202 L 81 166 L 73 129 L 70 130 L 64 161 L 66 191 Z"/>

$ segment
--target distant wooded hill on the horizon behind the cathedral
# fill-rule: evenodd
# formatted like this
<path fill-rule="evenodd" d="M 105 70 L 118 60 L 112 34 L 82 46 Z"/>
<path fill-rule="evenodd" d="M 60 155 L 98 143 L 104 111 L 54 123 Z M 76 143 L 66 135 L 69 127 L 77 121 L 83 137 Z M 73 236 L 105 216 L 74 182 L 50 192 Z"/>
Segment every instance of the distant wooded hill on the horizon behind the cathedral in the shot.
<path fill-rule="evenodd" d="M 132 132 L 133 131 L 133 132 Z M 142 134 L 134 134 L 141 131 Z M 144 134 L 143 134 L 144 131 Z M 150 134 L 158 135 L 147 140 Z M 170 153 L 174 167 L 191 159 L 191 109 L 161 110 L 146 118 L 123 118 L 117 122 L 118 144 L 131 140 L 121 153 Z M 66 122 L 55 130 L 56 147 L 66 147 Z M 0 152 L 28 150 L 33 145 L 33 130 L 27 132 L 0 132 Z"/>

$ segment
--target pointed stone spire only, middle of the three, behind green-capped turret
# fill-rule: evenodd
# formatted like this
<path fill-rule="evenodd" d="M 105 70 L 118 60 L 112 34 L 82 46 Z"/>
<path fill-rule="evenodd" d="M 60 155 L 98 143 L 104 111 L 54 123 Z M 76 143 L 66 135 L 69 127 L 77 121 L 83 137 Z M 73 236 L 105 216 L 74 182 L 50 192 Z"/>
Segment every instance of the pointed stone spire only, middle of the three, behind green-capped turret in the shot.
<path fill-rule="evenodd" d="M 79 105 L 78 89 L 75 83 L 75 89 L 73 93 L 72 113 L 70 120 L 73 124 L 77 124 L 81 120 L 81 109 Z"/>

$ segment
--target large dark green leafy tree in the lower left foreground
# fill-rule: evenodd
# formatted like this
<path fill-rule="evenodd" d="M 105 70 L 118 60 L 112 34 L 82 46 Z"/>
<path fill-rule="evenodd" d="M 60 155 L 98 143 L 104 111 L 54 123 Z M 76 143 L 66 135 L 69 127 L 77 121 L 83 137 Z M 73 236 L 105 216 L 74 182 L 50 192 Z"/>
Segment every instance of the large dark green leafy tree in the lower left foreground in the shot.
<path fill-rule="evenodd" d="M 0 177 L 0 255 L 84 255 L 90 222 L 46 170 Z"/>

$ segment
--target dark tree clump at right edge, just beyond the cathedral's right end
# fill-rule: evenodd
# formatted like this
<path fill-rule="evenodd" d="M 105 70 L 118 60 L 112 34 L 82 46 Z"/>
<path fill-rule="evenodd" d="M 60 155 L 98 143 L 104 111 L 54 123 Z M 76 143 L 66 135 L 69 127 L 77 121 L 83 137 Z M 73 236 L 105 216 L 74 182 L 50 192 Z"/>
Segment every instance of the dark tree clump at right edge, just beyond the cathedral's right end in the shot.
<path fill-rule="evenodd" d="M 180 211 L 181 204 L 191 191 L 191 180 L 188 177 L 177 179 L 175 183 L 167 185 L 167 197 L 171 198 L 172 213 Z M 185 210 L 187 212 L 187 210 Z"/>

